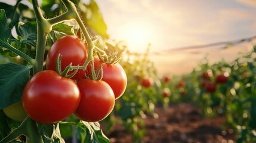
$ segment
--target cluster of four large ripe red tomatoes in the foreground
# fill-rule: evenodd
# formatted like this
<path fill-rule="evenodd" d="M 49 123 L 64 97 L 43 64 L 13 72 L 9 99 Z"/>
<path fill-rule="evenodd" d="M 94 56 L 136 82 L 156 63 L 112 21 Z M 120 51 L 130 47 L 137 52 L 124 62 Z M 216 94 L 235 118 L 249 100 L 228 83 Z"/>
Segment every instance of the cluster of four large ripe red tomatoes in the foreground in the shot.
<path fill-rule="evenodd" d="M 91 65 L 79 69 L 72 79 L 56 71 L 61 54 L 61 70 L 66 66 L 83 66 L 88 57 L 87 45 L 76 36 L 63 36 L 48 51 L 47 70 L 36 73 L 23 92 L 23 106 L 27 115 L 41 123 L 55 123 L 74 113 L 87 122 L 98 122 L 108 116 L 115 100 L 124 94 L 127 76 L 118 63 L 105 64 L 94 58 L 95 69 L 103 67 L 102 80 L 87 79 Z M 70 71 L 72 73 L 74 71 Z"/>

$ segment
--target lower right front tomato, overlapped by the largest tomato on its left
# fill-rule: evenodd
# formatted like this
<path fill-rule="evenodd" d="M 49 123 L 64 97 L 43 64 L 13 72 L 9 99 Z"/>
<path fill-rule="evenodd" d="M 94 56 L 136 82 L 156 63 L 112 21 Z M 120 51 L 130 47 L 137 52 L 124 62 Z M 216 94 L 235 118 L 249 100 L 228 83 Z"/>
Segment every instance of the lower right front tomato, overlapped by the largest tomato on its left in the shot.
<path fill-rule="evenodd" d="M 114 108 L 115 95 L 103 80 L 82 79 L 78 81 L 81 101 L 74 112 L 86 122 L 98 122 L 107 117 Z"/>

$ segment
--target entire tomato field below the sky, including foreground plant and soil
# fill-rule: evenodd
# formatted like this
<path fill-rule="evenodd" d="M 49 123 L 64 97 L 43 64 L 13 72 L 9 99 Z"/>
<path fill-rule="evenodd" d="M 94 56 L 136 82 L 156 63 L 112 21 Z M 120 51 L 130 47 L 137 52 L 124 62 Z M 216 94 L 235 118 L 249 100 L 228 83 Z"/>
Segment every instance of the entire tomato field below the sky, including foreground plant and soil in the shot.
<path fill-rule="evenodd" d="M 0 2 L 1 143 L 256 142 L 256 46 L 162 75 L 94 0 L 26 2 Z"/>

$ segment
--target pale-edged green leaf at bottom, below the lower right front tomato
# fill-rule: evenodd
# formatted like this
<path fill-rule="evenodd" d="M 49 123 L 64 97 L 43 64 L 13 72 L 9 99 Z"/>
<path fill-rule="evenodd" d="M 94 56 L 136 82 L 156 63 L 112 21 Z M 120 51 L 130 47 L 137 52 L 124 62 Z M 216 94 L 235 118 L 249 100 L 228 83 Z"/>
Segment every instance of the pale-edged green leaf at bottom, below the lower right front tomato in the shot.
<path fill-rule="evenodd" d="M 78 126 L 84 130 L 85 132 L 81 132 L 80 135 L 82 137 L 83 142 L 90 143 L 98 143 L 98 142 L 106 142 L 110 143 L 109 139 L 104 135 L 102 130 L 100 129 L 100 123 L 98 122 L 79 122 Z M 83 135 L 84 133 L 84 135 Z"/>

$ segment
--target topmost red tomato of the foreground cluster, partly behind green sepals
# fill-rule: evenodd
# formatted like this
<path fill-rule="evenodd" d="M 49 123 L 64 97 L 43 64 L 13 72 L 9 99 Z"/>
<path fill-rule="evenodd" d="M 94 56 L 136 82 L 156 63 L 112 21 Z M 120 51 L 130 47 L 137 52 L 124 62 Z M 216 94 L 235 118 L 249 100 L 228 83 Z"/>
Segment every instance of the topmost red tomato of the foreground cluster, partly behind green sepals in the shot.
<path fill-rule="evenodd" d="M 56 60 L 58 54 L 62 55 L 61 70 L 64 70 L 70 63 L 72 66 L 82 66 L 88 57 L 88 48 L 81 39 L 76 36 L 63 36 L 53 43 L 47 54 L 46 67 L 47 70 L 56 70 Z M 75 71 L 75 70 L 73 70 Z M 70 71 L 72 73 L 73 71 Z M 84 70 L 78 70 L 78 73 L 72 77 L 78 80 L 84 77 Z"/>

